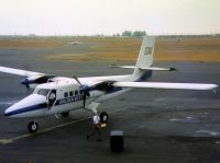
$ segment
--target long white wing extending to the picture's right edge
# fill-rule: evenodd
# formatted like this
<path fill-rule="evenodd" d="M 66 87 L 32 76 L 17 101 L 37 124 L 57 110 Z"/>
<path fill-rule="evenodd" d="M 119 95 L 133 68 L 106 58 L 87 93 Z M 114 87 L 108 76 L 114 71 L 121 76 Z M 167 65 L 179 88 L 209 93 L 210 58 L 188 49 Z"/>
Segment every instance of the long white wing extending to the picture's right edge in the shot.
<path fill-rule="evenodd" d="M 118 88 L 139 89 L 179 89 L 179 90 L 213 90 L 218 85 L 205 83 L 168 83 L 168 82 L 114 82 Z"/>

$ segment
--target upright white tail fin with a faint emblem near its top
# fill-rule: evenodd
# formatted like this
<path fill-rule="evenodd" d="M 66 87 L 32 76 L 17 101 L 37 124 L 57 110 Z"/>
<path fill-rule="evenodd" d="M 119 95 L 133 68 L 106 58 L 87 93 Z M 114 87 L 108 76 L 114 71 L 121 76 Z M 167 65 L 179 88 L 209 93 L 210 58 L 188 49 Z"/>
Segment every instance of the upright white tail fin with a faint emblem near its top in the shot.
<path fill-rule="evenodd" d="M 148 68 L 153 65 L 154 61 L 154 37 L 153 36 L 144 36 L 142 46 L 139 53 L 139 57 L 136 60 L 135 69 L 133 72 L 134 78 L 140 78 L 144 74 L 145 71 L 141 70 L 141 68 Z"/>

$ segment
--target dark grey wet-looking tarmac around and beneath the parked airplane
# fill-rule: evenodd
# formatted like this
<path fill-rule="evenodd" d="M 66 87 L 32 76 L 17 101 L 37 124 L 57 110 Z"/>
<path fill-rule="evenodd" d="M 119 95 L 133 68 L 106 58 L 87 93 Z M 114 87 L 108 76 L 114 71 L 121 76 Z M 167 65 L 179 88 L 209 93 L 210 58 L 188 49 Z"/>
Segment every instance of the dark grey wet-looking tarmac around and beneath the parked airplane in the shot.
<path fill-rule="evenodd" d="M 82 46 L 82 45 L 81 45 Z M 76 49 L 74 49 L 76 48 Z M 116 62 L 73 62 L 46 60 L 58 49 L 0 49 L 0 66 L 57 75 L 108 75 L 131 73 L 108 68 Z M 117 62 L 120 63 L 120 62 Z M 125 62 L 132 65 L 132 62 Z M 124 65 L 124 62 L 123 62 Z M 152 81 L 204 82 L 220 85 L 218 62 L 156 62 L 177 71 L 154 72 Z M 30 119 L 10 119 L 4 109 L 30 92 L 20 84 L 22 77 L 0 73 L 0 162 L 135 162 L 217 163 L 220 161 L 220 90 L 132 90 L 100 106 L 109 113 L 102 141 L 86 140 L 91 131 L 91 114 L 79 109 L 69 117 L 36 119 L 37 133 L 28 131 Z M 124 150 L 110 150 L 110 131 L 124 131 Z"/>

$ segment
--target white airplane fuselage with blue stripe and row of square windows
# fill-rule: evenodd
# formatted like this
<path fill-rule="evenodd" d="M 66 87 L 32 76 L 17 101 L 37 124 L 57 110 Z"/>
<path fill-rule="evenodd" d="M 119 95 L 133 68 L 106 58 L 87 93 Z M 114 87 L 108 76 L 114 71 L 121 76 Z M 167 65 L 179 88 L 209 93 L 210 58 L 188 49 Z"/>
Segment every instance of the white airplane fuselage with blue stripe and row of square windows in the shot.
<path fill-rule="evenodd" d="M 82 83 L 94 84 L 97 82 L 111 81 L 132 81 L 133 75 L 109 75 L 109 77 L 90 77 L 80 78 Z M 110 92 L 91 91 L 87 96 L 86 105 L 91 102 L 102 103 L 109 98 L 118 96 L 130 89 L 116 88 Z M 55 100 L 51 101 L 51 93 L 55 93 Z M 74 109 L 84 108 L 82 92 L 80 85 L 73 80 L 62 81 L 59 78 L 56 82 L 40 84 L 34 92 L 6 109 L 4 115 L 15 118 L 34 118 L 65 113 Z"/>

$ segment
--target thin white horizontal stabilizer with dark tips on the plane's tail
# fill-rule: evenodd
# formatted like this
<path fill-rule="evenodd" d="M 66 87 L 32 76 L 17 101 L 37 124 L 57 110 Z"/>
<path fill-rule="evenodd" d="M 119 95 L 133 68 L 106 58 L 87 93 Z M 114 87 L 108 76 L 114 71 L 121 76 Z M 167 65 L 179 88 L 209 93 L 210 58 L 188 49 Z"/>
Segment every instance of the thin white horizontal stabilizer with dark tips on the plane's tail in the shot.
<path fill-rule="evenodd" d="M 135 66 L 120 66 L 111 65 L 110 68 L 120 68 L 120 69 L 135 69 Z M 175 68 L 156 68 L 156 67 L 141 67 L 140 70 L 155 70 L 155 71 L 175 71 Z"/>

